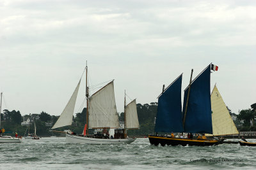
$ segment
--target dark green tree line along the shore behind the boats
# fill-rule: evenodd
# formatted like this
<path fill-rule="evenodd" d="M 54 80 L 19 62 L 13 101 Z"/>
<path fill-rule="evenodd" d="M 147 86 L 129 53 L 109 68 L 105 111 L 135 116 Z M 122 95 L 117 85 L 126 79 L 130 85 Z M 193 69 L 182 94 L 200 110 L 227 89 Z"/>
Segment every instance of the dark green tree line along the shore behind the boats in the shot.
<path fill-rule="evenodd" d="M 157 104 L 137 104 L 138 120 L 140 123 L 140 129 L 129 130 L 129 136 L 138 136 L 154 133 L 155 119 L 157 113 Z M 228 108 L 230 114 L 232 111 Z M 124 113 L 120 113 L 119 120 L 124 122 Z M 29 129 L 26 125 L 21 125 L 22 120 L 30 119 L 32 124 L 29 125 Z M 1 127 L 4 127 L 6 132 L 18 132 L 20 136 L 24 136 L 25 132 L 34 132 L 34 124 L 36 124 L 36 134 L 38 136 L 51 136 L 52 125 L 58 120 L 58 116 L 49 115 L 42 111 L 40 114 L 29 114 L 21 116 L 20 111 L 8 111 L 4 110 L 1 114 Z M 241 110 L 237 115 L 237 120 L 234 123 L 239 131 L 256 131 L 256 103 L 251 105 L 251 108 L 247 110 Z M 47 123 L 50 123 L 47 125 Z M 72 125 L 58 128 L 57 131 L 64 131 L 70 129 L 77 134 L 81 134 L 86 124 L 86 108 L 81 113 L 76 113 L 73 117 Z M 89 129 L 89 133 L 93 133 L 93 129 Z M 59 133 L 54 133 L 56 136 L 61 136 Z M 62 134 L 64 135 L 64 134 Z"/>

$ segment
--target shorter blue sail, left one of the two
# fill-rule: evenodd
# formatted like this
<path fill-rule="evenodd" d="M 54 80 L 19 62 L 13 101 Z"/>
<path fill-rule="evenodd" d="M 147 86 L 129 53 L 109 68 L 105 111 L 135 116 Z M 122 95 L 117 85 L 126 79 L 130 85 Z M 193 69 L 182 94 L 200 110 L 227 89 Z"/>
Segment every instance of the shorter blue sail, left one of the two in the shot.
<path fill-rule="evenodd" d="M 158 98 L 155 132 L 183 132 L 181 111 L 182 74 Z"/>

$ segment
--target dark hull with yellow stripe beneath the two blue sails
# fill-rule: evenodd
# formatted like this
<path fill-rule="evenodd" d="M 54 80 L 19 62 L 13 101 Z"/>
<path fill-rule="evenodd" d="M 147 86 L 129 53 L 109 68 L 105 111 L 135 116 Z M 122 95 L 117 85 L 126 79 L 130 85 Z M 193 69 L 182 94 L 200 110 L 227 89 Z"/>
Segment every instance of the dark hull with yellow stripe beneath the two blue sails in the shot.
<path fill-rule="evenodd" d="M 212 146 L 219 145 L 221 141 L 215 139 L 184 139 L 184 138 L 170 138 L 165 136 L 148 136 L 151 145 L 182 145 L 182 146 Z"/>

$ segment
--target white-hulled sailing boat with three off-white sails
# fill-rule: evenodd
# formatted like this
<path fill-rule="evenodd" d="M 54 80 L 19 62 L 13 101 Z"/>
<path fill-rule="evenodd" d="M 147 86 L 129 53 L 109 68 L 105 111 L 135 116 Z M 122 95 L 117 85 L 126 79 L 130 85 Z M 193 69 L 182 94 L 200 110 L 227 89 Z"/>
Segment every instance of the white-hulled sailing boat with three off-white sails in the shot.
<path fill-rule="evenodd" d="M 118 113 L 115 103 L 114 81 L 110 81 L 100 90 L 89 96 L 89 87 L 87 82 L 88 67 L 86 64 L 86 125 L 82 135 L 66 133 L 66 143 L 86 143 L 86 144 L 120 144 L 132 143 L 136 139 L 127 138 L 125 132 L 127 129 L 138 128 L 138 116 L 136 111 L 136 101 L 132 101 L 125 106 L 125 129 L 121 129 L 118 120 Z M 74 107 L 76 104 L 77 93 L 81 79 L 77 84 L 67 106 L 53 125 L 52 129 L 72 124 Z M 135 104 L 135 105 L 134 105 Z M 116 129 L 113 139 L 108 136 L 95 136 L 86 134 L 88 129 Z"/>

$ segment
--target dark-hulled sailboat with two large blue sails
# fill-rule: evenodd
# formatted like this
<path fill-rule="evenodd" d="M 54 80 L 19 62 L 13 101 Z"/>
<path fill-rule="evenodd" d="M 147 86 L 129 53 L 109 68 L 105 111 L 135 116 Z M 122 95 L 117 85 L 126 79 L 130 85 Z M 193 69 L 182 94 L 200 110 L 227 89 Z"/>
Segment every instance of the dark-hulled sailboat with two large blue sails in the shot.
<path fill-rule="evenodd" d="M 158 97 L 155 132 L 187 132 L 212 134 L 210 74 L 214 65 L 209 64 L 184 90 L 183 110 L 181 106 L 182 74 Z M 218 145 L 218 139 L 172 138 L 149 135 L 152 145 Z"/>

